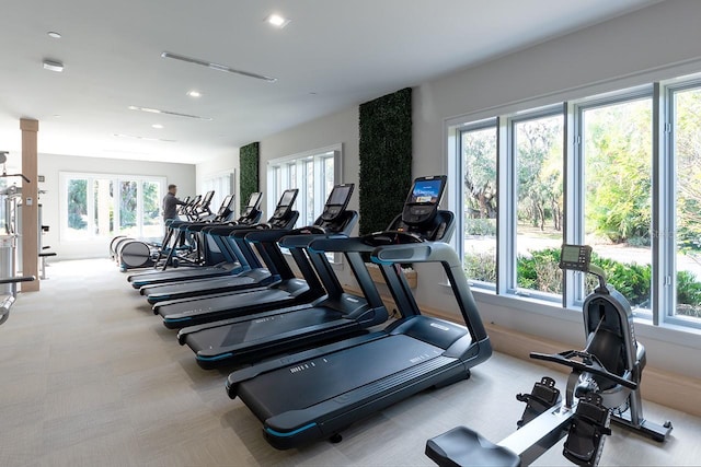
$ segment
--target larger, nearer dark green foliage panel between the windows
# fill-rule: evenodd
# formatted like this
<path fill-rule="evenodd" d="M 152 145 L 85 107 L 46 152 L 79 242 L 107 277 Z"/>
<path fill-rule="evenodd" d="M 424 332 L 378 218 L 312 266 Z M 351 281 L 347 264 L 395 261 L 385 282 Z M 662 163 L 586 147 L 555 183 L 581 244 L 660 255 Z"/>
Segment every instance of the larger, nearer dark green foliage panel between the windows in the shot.
<path fill-rule="evenodd" d="M 383 231 L 412 184 L 412 90 L 360 104 L 360 234 Z"/>

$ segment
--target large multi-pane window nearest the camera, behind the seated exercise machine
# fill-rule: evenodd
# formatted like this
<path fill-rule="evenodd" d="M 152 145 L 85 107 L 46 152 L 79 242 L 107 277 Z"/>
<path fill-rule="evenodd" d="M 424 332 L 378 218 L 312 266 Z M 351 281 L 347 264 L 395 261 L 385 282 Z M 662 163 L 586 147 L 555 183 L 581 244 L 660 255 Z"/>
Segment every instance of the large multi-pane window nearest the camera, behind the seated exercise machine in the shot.
<path fill-rule="evenodd" d="M 584 243 L 636 318 L 701 328 L 700 77 L 479 117 L 446 127 L 476 291 L 576 307 L 593 282 L 558 261 Z"/>

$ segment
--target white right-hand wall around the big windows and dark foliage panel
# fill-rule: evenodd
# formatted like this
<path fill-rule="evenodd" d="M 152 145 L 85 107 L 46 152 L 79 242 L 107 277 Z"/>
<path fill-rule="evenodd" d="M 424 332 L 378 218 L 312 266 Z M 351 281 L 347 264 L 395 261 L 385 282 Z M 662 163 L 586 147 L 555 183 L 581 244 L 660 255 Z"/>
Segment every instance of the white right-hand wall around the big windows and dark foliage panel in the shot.
<path fill-rule="evenodd" d="M 584 97 L 652 80 L 701 72 L 701 1 L 668 0 L 530 49 L 418 84 L 413 92 L 414 176 L 446 172 L 445 121 L 461 115 L 498 113 Z M 498 34 L 498 32 L 495 32 Z M 360 103 L 358 103 L 360 104 Z M 265 163 L 342 142 L 344 182 L 358 184 L 357 106 L 261 141 L 261 185 Z M 358 207 L 358 197 L 350 202 Z M 416 296 L 424 306 L 458 314 L 436 265 L 418 265 Z M 347 271 L 343 283 L 353 283 Z M 487 323 L 578 347 L 581 315 L 556 307 L 475 293 Z M 701 377 L 698 335 L 637 326 L 648 362 L 659 369 Z M 680 358 L 685 355 L 685 358 Z M 696 355 L 696 358 L 693 358 Z"/>

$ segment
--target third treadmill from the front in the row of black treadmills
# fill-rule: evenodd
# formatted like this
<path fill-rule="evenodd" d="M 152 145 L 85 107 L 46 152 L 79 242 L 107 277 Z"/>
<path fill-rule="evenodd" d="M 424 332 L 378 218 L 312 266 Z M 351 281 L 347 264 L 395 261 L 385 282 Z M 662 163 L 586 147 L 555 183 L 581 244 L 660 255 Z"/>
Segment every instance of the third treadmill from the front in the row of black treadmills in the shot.
<path fill-rule="evenodd" d="M 349 197 L 349 191 L 347 197 Z M 347 203 L 347 200 L 345 202 Z M 340 205 L 330 206 L 327 209 L 331 211 L 326 211 L 326 214 L 329 215 L 334 210 L 340 211 Z M 353 223 L 356 222 L 352 217 L 346 217 L 344 223 L 350 221 Z M 323 223 L 325 221 L 320 217 L 317 222 Z M 319 230 L 319 227 L 320 225 L 310 225 L 306 229 L 310 230 L 310 232 L 311 230 L 321 232 L 322 230 Z M 346 229 L 346 235 L 352 227 L 353 225 L 349 225 Z M 344 226 L 341 225 L 341 229 L 340 232 L 343 232 Z M 299 279 L 295 275 L 286 255 L 278 245 L 278 242 L 288 234 L 289 231 L 284 230 L 237 231 L 231 234 L 237 242 L 253 243 L 258 252 L 264 254 L 262 256 L 266 265 L 279 273 L 280 280 L 278 282 L 265 289 L 239 290 L 200 297 L 194 296 L 159 302 L 153 305 L 153 313 L 163 317 L 165 327 L 177 329 L 286 307 L 296 307 L 297 310 L 309 307 L 311 303 L 324 296 L 326 290 L 320 281 L 314 267 L 310 264 L 307 253 L 298 247 L 290 248 L 289 254 L 303 279 Z M 318 258 L 312 259 L 312 261 L 315 260 Z M 326 273 L 333 273 L 330 265 Z"/>

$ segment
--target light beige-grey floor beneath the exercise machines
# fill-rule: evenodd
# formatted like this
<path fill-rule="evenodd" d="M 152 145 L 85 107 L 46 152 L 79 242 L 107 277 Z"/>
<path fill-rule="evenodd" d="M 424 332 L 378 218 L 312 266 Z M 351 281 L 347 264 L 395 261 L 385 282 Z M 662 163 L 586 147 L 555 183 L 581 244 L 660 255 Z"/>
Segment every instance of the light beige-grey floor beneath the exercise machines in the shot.
<path fill-rule="evenodd" d="M 0 326 L 0 466 L 433 465 L 427 439 L 466 424 L 498 441 L 521 415 L 516 393 L 543 374 L 564 388 L 563 374 L 497 353 L 468 381 L 355 423 L 338 444 L 276 451 L 227 396 L 227 372 L 197 366 L 113 262 L 58 261 L 47 272 Z M 659 445 L 614 427 L 601 465 L 701 465 L 699 418 L 645 410 L 673 421 L 671 437 Z M 560 451 L 538 464 L 566 465 Z"/>

